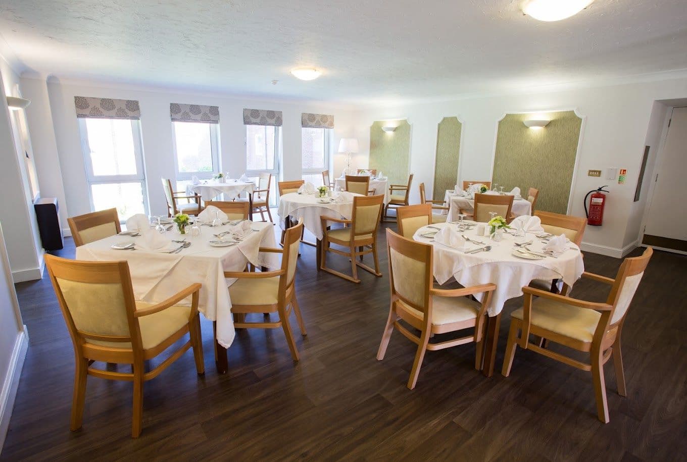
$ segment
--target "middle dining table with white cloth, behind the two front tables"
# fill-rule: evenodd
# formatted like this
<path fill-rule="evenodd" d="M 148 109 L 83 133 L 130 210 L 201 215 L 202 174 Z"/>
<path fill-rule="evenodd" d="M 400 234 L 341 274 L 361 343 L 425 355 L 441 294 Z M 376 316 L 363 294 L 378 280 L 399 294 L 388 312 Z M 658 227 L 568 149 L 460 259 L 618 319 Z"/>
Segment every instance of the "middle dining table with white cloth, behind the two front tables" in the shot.
<path fill-rule="evenodd" d="M 362 196 L 352 192 L 347 194 L 350 194 L 351 197 Z M 291 223 L 303 220 L 305 229 L 315 236 L 315 243 L 302 242 L 311 244 L 317 249 L 315 259 L 318 271 L 322 260 L 322 238 L 324 237 L 322 221 L 319 218 L 321 216 L 333 216 L 334 218 L 350 220 L 353 215 L 353 200 L 341 200 L 337 198 L 338 196 L 335 193 L 332 197 L 319 198 L 317 194 L 290 192 L 279 198 L 277 214 L 280 217 L 279 222 L 282 229 L 288 229 L 291 227 Z"/>

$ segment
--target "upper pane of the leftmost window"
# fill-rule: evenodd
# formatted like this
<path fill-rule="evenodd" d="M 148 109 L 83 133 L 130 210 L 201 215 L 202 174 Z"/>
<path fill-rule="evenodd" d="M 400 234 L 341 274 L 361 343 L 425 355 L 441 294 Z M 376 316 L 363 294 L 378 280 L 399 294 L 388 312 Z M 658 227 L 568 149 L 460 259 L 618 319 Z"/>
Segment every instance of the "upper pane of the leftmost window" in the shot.
<path fill-rule="evenodd" d="M 133 132 L 128 119 L 84 119 L 93 174 L 135 175 Z"/>

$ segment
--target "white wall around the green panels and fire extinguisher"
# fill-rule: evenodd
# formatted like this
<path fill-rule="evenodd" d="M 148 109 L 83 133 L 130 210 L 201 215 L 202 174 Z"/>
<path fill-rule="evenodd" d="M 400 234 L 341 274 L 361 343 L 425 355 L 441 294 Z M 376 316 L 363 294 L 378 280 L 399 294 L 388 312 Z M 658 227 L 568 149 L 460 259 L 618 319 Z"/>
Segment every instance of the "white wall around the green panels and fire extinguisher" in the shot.
<path fill-rule="evenodd" d="M 361 122 L 369 127 L 375 120 L 407 117 L 412 125 L 410 170 L 415 174 L 412 200 L 417 202 L 419 183 L 424 182 L 427 191 L 432 191 L 437 124 L 442 117 L 455 115 L 463 124 L 458 174 L 458 180 L 462 181 L 491 178 L 497 122 L 504 114 L 576 110 L 578 115 L 585 117 L 585 122 L 571 196 L 571 213 L 584 216 L 585 194 L 590 189 L 611 183 L 603 178 L 587 176 L 587 170 L 627 168 L 627 183 L 618 185 L 616 181 L 609 185 L 604 224 L 602 227 L 587 227 L 584 238 L 588 251 L 618 257 L 627 251 L 639 233 L 639 220 L 635 218 L 637 213 L 633 207 L 643 205 L 634 205 L 633 196 L 653 102 L 686 96 L 687 79 L 661 80 L 592 89 L 368 108 L 363 111 Z M 369 130 L 365 136 L 361 143 L 369 146 Z M 655 156 L 655 152 L 651 154 Z M 646 192 L 642 196 L 646 197 Z"/>

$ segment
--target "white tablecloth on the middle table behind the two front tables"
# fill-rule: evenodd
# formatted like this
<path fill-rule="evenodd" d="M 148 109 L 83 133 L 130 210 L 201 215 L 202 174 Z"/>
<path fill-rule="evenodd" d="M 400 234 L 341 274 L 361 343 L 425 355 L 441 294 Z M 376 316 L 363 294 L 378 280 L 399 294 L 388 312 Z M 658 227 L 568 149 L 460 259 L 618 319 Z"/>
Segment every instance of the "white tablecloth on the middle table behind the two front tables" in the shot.
<path fill-rule="evenodd" d="M 351 194 L 360 196 L 360 194 Z M 282 227 L 284 227 L 284 218 L 287 216 L 293 217 L 294 221 L 303 218 L 305 229 L 313 233 L 318 240 L 322 240 L 322 222 L 319 217 L 326 215 L 350 220 L 353 215 L 353 202 L 321 204 L 314 194 L 290 192 L 280 197 L 278 214 Z"/>

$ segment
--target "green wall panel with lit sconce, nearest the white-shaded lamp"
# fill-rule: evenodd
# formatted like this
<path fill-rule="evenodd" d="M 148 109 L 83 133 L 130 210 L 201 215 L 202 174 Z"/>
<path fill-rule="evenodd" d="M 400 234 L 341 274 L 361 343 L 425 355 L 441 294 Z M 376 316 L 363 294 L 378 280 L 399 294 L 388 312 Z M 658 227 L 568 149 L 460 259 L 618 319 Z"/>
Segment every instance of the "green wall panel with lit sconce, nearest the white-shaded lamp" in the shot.
<path fill-rule="evenodd" d="M 385 125 L 396 126 L 385 132 Z M 407 120 L 377 120 L 370 126 L 370 168 L 389 177 L 390 185 L 408 182 L 410 162 L 410 124 Z"/>

